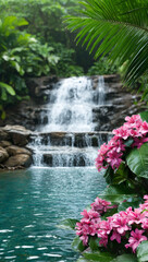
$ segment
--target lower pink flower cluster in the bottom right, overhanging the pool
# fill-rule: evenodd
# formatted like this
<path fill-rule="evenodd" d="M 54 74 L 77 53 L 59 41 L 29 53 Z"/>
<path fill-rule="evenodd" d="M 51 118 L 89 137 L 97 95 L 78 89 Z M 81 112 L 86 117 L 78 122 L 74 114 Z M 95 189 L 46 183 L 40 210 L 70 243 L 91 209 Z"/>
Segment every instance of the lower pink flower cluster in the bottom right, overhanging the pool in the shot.
<path fill-rule="evenodd" d="M 109 216 L 107 221 L 101 221 L 101 206 L 103 212 L 113 206 L 110 206 L 110 202 L 97 198 L 89 212 L 82 212 L 84 217 L 76 224 L 76 235 L 83 240 L 84 246 L 88 245 L 90 236 L 98 237 L 99 245 L 106 248 L 109 241 L 114 240 L 120 245 L 124 240 L 125 248 L 131 248 L 135 253 L 138 245 L 148 240 L 148 195 L 144 199 L 144 204 L 138 209 L 128 207 L 126 211 Z"/>

